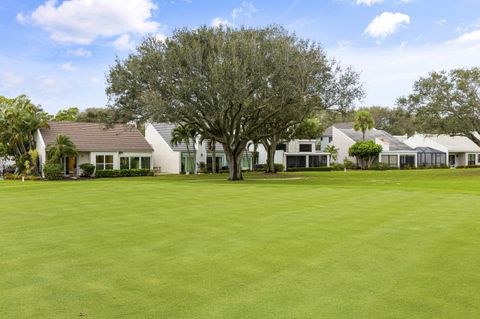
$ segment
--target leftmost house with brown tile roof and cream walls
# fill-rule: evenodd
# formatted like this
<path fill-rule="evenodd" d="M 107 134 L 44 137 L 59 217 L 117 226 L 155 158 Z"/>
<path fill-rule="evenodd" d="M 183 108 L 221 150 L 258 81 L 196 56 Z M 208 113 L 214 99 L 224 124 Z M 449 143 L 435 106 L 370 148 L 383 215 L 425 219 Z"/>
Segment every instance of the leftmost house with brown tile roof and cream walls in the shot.
<path fill-rule="evenodd" d="M 81 175 L 84 163 L 95 165 L 96 170 L 153 168 L 153 149 L 135 127 L 65 121 L 49 122 L 48 127 L 37 130 L 40 170 L 47 161 L 47 146 L 54 144 L 59 134 L 68 136 L 78 151 L 77 156 L 63 159 L 65 176 Z"/>

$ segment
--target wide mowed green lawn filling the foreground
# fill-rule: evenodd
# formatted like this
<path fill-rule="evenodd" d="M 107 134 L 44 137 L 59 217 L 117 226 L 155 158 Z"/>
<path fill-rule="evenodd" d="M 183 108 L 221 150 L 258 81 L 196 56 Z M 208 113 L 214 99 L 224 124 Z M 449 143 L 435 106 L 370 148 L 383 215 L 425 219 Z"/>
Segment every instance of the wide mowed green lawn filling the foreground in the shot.
<path fill-rule="evenodd" d="M 480 170 L 0 182 L 1 318 L 478 318 Z"/>

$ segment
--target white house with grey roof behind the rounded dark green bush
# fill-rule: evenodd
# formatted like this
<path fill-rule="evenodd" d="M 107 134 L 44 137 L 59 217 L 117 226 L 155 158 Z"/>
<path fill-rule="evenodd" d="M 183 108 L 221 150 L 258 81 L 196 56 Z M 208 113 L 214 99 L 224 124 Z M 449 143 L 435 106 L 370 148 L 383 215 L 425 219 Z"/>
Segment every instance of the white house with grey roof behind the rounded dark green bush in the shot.
<path fill-rule="evenodd" d="M 335 125 L 331 127 L 331 132 L 330 144 L 338 149 L 338 161 L 342 162 L 345 158 L 356 161 L 355 158 L 348 155 L 348 149 L 356 142 L 363 140 L 362 132 L 355 131 L 353 128 L 337 128 Z M 417 151 L 393 135 L 382 130 L 372 129 L 365 133 L 365 140 L 382 145 L 383 150 L 379 155 L 379 162 L 392 168 L 417 166 Z"/>

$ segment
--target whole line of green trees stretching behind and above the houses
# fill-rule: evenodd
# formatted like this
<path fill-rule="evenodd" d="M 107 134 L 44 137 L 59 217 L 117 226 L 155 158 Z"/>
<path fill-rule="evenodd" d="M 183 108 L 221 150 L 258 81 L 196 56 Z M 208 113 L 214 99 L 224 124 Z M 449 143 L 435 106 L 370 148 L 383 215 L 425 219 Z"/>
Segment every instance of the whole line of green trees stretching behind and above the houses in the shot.
<path fill-rule="evenodd" d="M 395 135 L 461 134 L 476 140 L 479 92 L 479 68 L 432 72 L 395 107 L 361 110 L 371 114 L 376 128 Z M 279 143 L 315 138 L 333 123 L 353 122 L 358 111 L 353 105 L 365 95 L 358 72 L 278 26 L 200 27 L 176 30 L 164 41 L 148 37 L 110 67 L 106 93 L 108 108 L 69 108 L 55 115 L 26 96 L 0 97 L 0 157 L 13 157 L 25 170 L 36 129 L 50 120 L 165 121 L 185 130 L 177 132 L 177 142 L 186 135 L 213 147 L 222 144 L 229 179 L 241 180 L 240 160 L 250 143 L 265 147 L 268 171 L 274 172 Z"/>

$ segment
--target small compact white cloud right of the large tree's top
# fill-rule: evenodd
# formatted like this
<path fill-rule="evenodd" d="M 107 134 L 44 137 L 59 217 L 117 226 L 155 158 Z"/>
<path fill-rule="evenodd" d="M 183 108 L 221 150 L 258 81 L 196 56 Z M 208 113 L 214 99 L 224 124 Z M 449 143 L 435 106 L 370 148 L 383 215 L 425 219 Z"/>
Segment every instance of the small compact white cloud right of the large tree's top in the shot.
<path fill-rule="evenodd" d="M 383 12 L 370 22 L 365 29 L 365 34 L 372 38 L 384 39 L 409 23 L 410 17 L 406 14 Z"/>

